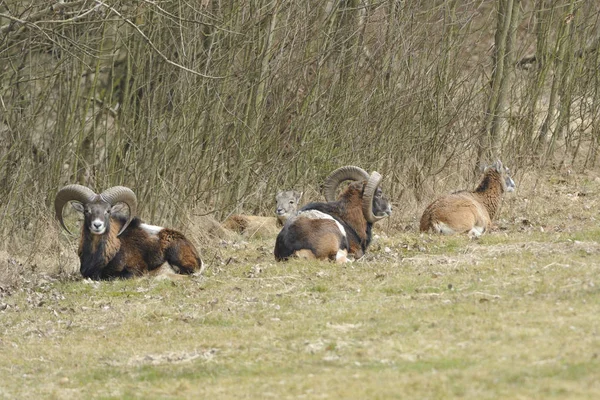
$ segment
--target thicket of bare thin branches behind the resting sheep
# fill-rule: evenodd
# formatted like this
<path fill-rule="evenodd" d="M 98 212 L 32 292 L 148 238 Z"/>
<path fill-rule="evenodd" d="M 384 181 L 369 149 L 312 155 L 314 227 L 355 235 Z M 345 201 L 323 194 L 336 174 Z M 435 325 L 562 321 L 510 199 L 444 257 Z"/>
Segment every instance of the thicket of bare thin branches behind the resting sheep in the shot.
<path fill-rule="evenodd" d="M 265 211 L 343 164 L 597 160 L 596 1 L 0 1 L 0 226 L 127 185 L 159 223 Z M 47 221 L 47 219 L 44 219 Z"/>

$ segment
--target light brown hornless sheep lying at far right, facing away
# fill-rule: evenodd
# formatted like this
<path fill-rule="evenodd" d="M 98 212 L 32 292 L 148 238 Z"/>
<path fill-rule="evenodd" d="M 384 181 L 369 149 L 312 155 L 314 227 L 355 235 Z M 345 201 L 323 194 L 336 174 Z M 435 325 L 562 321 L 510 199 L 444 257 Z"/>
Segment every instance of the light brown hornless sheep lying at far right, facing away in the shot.
<path fill-rule="evenodd" d="M 421 232 L 454 234 L 467 232 L 479 237 L 490 229 L 505 192 L 515 190 L 508 168 L 500 161 L 485 168 L 483 179 L 472 191 L 455 192 L 431 203 L 421 216 Z"/>

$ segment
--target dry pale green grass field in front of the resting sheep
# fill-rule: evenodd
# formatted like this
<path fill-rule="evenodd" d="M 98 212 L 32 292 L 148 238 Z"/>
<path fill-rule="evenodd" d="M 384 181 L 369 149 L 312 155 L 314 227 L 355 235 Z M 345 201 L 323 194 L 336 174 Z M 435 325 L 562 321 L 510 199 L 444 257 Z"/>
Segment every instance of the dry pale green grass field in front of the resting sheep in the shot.
<path fill-rule="evenodd" d="M 33 272 L 0 298 L 0 397 L 600 398 L 599 181 L 523 177 L 476 241 L 395 205 L 346 265 L 238 237 L 202 277 Z"/>

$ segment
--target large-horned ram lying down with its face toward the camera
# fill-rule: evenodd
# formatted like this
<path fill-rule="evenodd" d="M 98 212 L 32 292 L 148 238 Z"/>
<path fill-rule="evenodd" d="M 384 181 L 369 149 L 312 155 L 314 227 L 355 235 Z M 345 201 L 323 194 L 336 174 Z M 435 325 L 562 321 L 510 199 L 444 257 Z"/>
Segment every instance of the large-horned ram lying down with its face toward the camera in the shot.
<path fill-rule="evenodd" d="M 137 199 L 131 189 L 115 186 L 100 194 L 81 185 L 60 189 L 54 209 L 67 232 L 62 213 L 70 201 L 84 215 L 78 251 L 83 277 L 131 278 L 155 270 L 165 262 L 181 274 L 203 271 L 202 259 L 183 234 L 144 224 L 135 217 Z M 129 217 L 119 212 L 122 203 L 129 208 Z"/>

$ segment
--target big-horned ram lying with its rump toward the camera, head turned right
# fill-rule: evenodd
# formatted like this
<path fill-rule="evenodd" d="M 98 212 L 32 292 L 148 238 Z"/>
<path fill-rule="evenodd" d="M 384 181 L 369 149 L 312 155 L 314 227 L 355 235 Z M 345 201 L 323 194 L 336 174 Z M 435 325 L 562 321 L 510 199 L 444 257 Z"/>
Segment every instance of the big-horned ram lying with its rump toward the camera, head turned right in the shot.
<path fill-rule="evenodd" d="M 346 262 L 348 254 L 363 256 L 371 243 L 373 224 L 392 213 L 379 184 L 381 175 L 355 166 L 333 171 L 325 180 L 325 203 L 310 203 L 287 220 L 275 242 L 275 259 L 330 259 Z M 353 181 L 336 200 L 336 189 Z"/>

